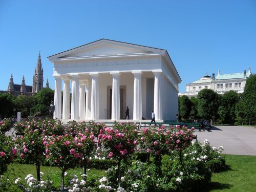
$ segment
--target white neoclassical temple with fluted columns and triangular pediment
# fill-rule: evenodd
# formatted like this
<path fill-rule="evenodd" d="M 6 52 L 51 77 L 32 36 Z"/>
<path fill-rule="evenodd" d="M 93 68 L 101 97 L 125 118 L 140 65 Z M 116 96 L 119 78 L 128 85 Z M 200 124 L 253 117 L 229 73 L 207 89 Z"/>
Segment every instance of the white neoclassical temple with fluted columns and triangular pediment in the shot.
<path fill-rule="evenodd" d="M 151 119 L 151 110 L 158 121 L 176 119 L 181 78 L 166 50 L 100 39 L 48 58 L 54 118 L 120 120 L 128 106 L 133 120 Z"/>

